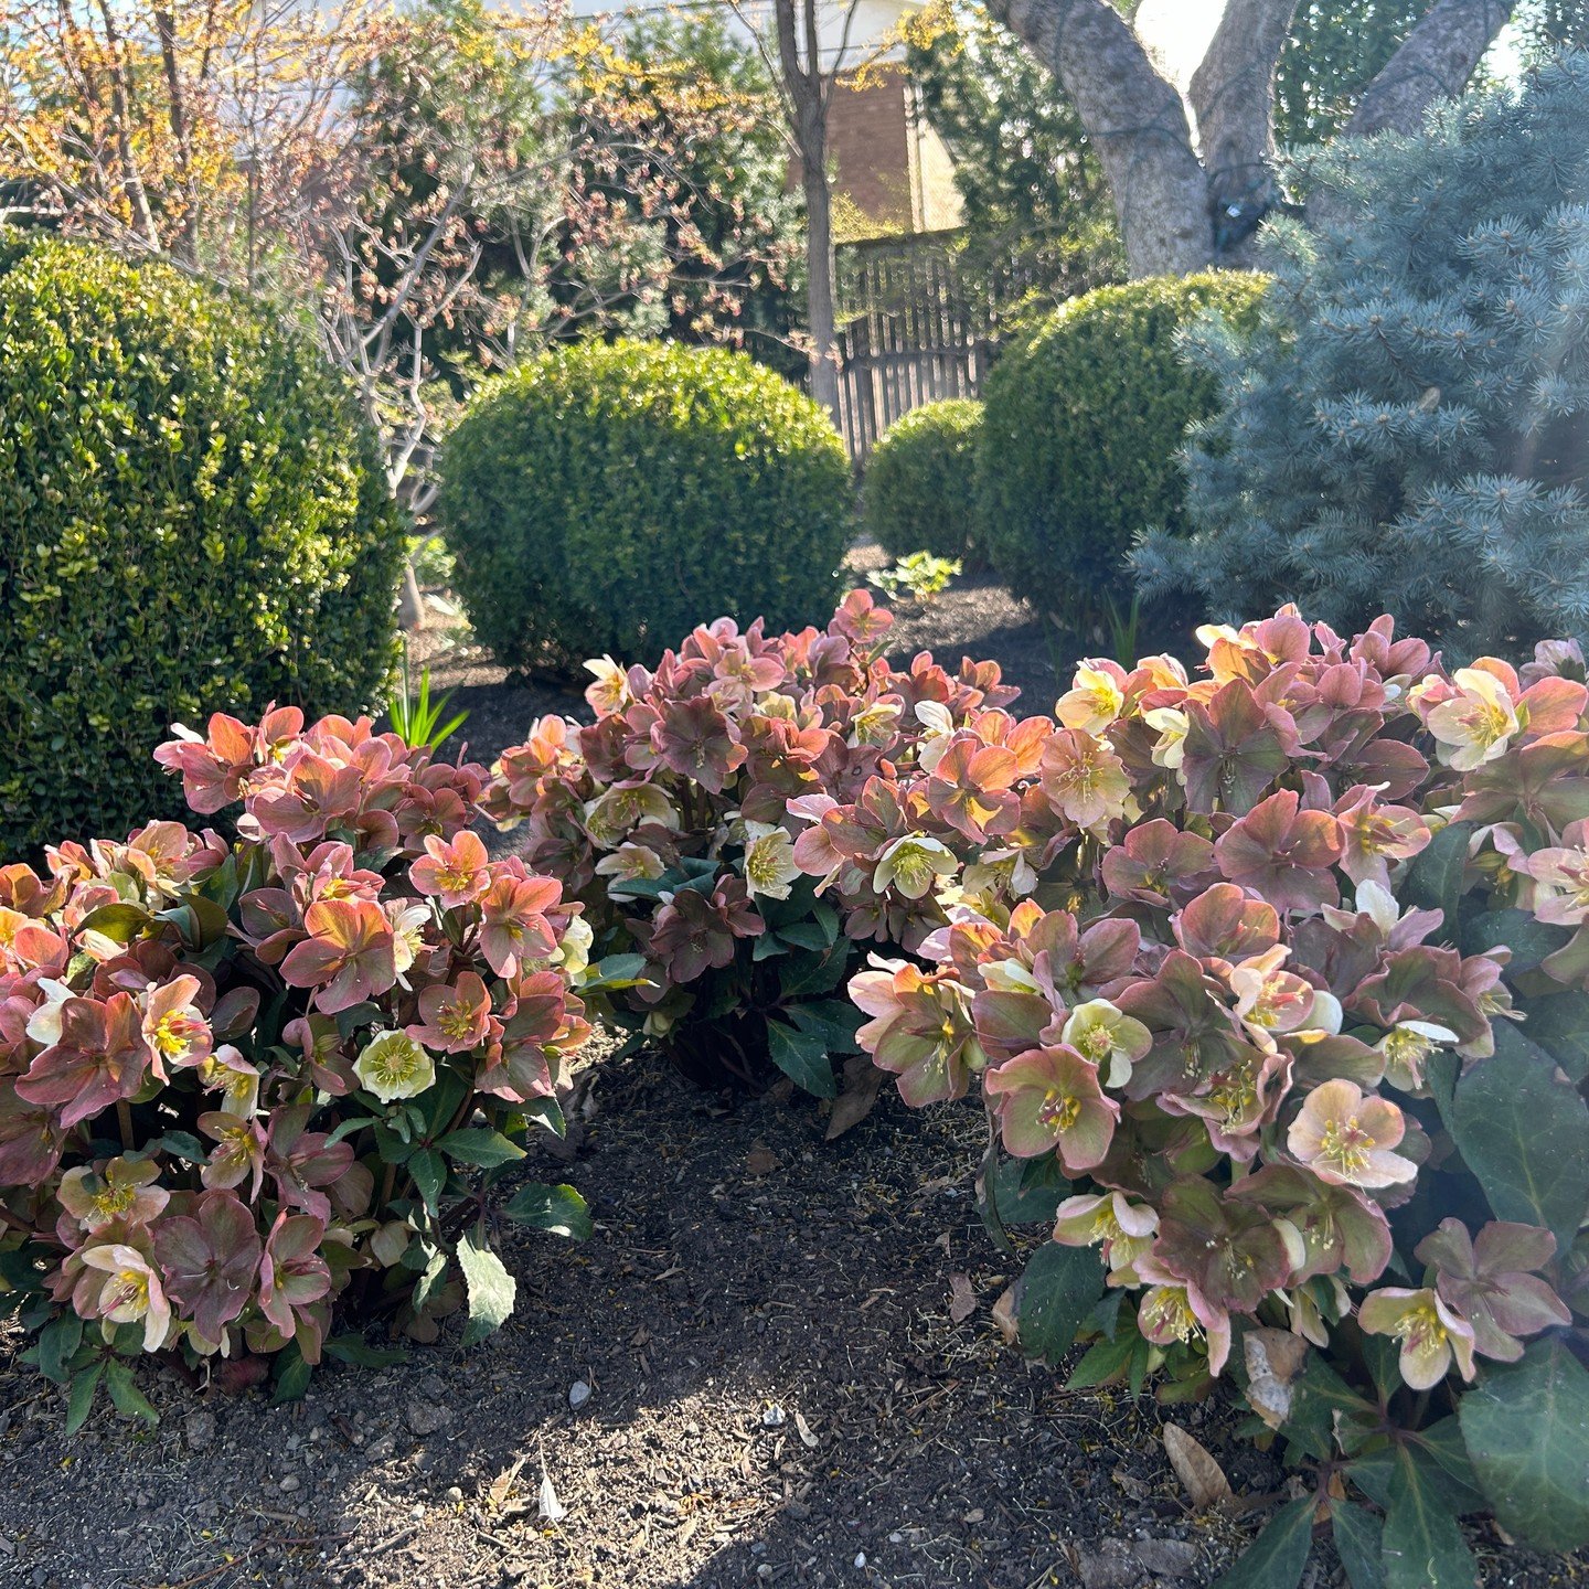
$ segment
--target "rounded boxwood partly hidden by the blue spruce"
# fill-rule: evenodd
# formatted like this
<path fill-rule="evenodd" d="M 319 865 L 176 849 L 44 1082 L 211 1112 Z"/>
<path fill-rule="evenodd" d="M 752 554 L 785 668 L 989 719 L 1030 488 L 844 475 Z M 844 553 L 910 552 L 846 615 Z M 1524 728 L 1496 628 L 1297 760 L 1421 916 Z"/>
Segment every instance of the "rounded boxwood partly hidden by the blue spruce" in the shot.
<path fill-rule="evenodd" d="M 988 558 L 1084 644 L 1131 607 L 1135 537 L 1182 526 L 1179 451 L 1219 402 L 1176 332 L 1206 308 L 1238 329 L 1265 276 L 1214 270 L 1098 288 L 1017 340 L 988 375 L 979 489 Z M 1160 620 L 1165 615 L 1157 615 Z"/>

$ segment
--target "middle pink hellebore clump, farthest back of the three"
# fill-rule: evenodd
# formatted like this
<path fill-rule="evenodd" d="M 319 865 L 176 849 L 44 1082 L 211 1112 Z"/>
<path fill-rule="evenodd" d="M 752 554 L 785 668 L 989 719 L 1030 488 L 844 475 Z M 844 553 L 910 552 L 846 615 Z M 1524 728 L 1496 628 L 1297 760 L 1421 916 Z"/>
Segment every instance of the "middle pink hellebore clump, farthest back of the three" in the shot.
<path fill-rule="evenodd" d="M 952 675 L 922 653 L 890 667 L 891 623 L 853 591 L 826 629 L 774 637 L 723 618 L 655 671 L 590 663 L 594 725 L 542 718 L 485 791 L 504 826 L 524 825 L 526 863 L 585 904 L 596 941 L 634 957 L 613 965 L 631 971 L 620 1019 L 702 1077 L 760 1082 L 777 1066 L 837 1093 L 829 1055 L 855 1052 L 858 1025 L 841 992 L 852 939 L 898 942 L 904 912 L 852 912 L 841 931 L 802 872 L 823 869 L 810 864 L 829 845 L 822 818 L 933 763 L 955 720 L 1015 693 L 992 663 Z M 876 869 L 903 895 L 931 864 L 906 847 Z M 856 1068 L 837 1127 L 876 1095 L 876 1073 Z"/>

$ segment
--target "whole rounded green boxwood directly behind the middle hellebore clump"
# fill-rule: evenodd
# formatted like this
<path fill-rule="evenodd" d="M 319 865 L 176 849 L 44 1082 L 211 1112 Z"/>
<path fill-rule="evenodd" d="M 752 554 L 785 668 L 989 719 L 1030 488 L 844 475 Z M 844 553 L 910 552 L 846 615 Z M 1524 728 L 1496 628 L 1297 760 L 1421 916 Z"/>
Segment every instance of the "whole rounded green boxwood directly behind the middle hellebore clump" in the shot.
<path fill-rule="evenodd" d="M 844 443 L 742 353 L 572 343 L 491 383 L 439 497 L 475 634 L 508 667 L 651 661 L 709 618 L 833 607 L 852 534 Z"/>

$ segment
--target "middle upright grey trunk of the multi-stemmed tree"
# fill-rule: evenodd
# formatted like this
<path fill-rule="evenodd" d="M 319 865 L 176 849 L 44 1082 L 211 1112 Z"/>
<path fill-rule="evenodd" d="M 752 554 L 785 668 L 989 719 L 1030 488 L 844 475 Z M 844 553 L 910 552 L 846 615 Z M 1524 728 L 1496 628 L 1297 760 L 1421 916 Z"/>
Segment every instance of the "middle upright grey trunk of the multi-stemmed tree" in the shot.
<path fill-rule="evenodd" d="M 1274 67 L 1295 11 L 1297 0 L 1228 0 L 1192 73 L 1216 249 L 1251 234 L 1276 199 Z"/>

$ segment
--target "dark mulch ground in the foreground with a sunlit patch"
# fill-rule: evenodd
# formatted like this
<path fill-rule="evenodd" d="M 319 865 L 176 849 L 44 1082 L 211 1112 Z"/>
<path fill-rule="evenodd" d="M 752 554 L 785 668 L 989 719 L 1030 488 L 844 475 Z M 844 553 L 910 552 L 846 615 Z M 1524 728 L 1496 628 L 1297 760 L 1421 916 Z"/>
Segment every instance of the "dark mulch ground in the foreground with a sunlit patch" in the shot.
<path fill-rule="evenodd" d="M 826 1144 L 806 1100 L 725 1106 L 642 1057 L 591 1106 L 580 1160 L 529 1174 L 575 1179 L 596 1236 L 504 1233 L 520 1308 L 470 1354 L 334 1367 L 288 1409 L 153 1371 L 159 1429 L 102 1413 L 67 1440 L 0 1343 L 0 1583 L 1163 1589 L 1206 1584 L 1282 1490 L 1228 1406 L 1071 1394 L 1004 1346 L 969 1104 L 890 1095 Z M 1189 1508 L 1166 1417 L 1244 1516 Z M 1486 1583 L 1583 1581 L 1475 1543 Z"/>

